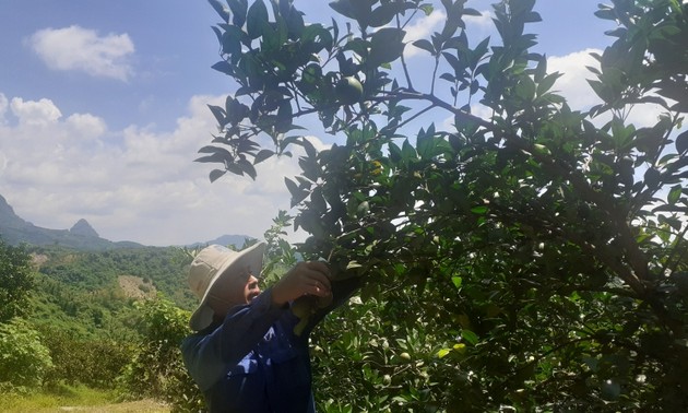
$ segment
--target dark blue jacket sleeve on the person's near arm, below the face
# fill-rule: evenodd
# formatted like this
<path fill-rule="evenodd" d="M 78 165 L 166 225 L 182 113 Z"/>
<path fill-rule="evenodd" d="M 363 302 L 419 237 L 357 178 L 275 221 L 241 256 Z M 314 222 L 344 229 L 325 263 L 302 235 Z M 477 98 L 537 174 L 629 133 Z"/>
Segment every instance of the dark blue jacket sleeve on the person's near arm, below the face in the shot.
<path fill-rule="evenodd" d="M 265 290 L 250 304 L 229 310 L 222 324 L 209 334 L 190 335 L 181 343 L 189 374 L 202 391 L 210 389 L 262 340 L 285 308 L 272 303 Z"/>

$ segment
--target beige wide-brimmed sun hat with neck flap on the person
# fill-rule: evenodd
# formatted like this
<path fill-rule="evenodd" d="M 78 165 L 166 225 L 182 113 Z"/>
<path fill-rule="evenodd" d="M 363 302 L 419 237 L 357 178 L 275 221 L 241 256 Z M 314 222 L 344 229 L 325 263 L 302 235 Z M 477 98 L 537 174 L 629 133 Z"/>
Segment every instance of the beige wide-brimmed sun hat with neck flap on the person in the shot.
<path fill-rule="evenodd" d="M 241 275 L 246 269 L 256 276 L 260 275 L 264 252 L 265 243 L 258 243 L 241 251 L 211 245 L 195 256 L 189 270 L 189 286 L 201 303 L 189 321 L 192 330 L 203 330 L 213 322 L 213 310 L 206 300 L 215 282 L 221 276 Z"/>

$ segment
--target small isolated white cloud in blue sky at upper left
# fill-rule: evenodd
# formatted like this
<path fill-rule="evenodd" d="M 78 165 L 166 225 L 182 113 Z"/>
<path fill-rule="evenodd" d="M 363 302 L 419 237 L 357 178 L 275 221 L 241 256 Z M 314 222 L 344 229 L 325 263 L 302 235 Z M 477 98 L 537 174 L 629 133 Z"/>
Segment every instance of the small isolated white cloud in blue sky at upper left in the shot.
<path fill-rule="evenodd" d="M 29 38 L 32 49 L 54 70 L 83 71 L 95 78 L 127 81 L 134 45 L 128 34 L 98 36 L 80 26 L 44 28 Z"/>

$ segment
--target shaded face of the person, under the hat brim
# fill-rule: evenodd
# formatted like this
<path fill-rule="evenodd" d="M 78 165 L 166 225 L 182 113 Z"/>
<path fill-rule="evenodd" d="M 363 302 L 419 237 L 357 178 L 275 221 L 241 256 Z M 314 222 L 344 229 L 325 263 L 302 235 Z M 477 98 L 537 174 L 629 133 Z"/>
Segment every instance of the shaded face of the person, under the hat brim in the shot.
<path fill-rule="evenodd" d="M 251 273 L 225 276 L 213 285 L 207 304 L 216 316 L 225 317 L 234 306 L 249 304 L 260 294 L 258 279 Z"/>

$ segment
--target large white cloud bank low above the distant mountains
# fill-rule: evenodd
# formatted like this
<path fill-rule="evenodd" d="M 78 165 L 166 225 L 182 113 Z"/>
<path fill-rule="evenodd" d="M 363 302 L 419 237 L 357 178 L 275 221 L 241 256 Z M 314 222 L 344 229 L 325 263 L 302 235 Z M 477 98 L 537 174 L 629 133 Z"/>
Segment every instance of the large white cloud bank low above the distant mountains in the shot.
<path fill-rule="evenodd" d="M 211 184 L 207 174 L 218 165 L 192 161 L 216 130 L 206 104 L 222 102 L 194 96 L 171 131 L 109 131 L 92 114 L 61 116 L 49 99 L 14 97 L 20 121 L 0 125 L 0 194 L 35 225 L 64 229 L 83 217 L 111 240 L 177 245 L 224 234 L 261 237 L 277 211 L 289 208 L 284 177 L 298 173 L 298 153 L 259 164 L 256 181 L 227 174 Z"/>

